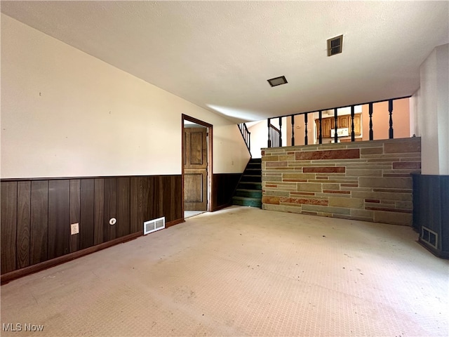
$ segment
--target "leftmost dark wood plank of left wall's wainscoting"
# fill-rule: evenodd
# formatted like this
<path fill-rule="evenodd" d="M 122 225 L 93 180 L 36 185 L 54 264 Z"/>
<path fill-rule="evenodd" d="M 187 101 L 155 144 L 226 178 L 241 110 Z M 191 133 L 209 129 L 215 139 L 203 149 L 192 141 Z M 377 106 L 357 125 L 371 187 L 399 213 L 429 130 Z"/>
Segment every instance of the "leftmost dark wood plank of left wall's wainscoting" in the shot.
<path fill-rule="evenodd" d="M 1 184 L 1 272 L 16 269 L 17 182 Z"/>

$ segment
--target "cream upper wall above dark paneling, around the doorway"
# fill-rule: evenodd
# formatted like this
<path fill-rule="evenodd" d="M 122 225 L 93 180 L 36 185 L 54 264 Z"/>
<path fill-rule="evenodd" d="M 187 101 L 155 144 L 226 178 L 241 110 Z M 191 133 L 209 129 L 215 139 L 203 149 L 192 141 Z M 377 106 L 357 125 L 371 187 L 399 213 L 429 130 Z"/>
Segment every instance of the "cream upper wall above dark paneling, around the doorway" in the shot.
<path fill-rule="evenodd" d="M 1 15 L 1 178 L 181 173 L 181 114 L 213 124 L 214 173 L 242 172 L 238 127 Z"/>

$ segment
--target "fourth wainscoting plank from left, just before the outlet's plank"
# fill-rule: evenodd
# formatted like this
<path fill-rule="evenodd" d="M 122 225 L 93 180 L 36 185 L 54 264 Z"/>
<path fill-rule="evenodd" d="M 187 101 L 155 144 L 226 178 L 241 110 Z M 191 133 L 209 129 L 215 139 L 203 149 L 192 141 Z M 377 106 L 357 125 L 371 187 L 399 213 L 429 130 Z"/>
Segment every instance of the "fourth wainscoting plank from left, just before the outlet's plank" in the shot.
<path fill-rule="evenodd" d="M 48 258 L 69 253 L 70 180 L 48 181 Z"/>

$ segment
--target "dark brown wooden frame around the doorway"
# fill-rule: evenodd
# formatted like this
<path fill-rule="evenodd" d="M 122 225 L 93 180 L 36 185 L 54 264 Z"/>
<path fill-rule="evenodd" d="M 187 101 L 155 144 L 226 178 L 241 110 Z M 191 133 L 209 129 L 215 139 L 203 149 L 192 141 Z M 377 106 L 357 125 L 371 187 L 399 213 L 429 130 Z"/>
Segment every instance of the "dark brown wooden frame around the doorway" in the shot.
<path fill-rule="evenodd" d="M 194 117 L 190 117 L 187 114 L 181 114 L 181 180 L 182 180 L 182 218 L 184 219 L 184 157 L 185 157 L 185 141 L 184 141 L 184 121 L 192 121 L 192 123 L 199 124 L 201 126 L 204 126 L 208 129 L 207 133 L 207 143 L 208 143 L 208 177 L 207 177 L 207 187 L 208 187 L 208 206 L 207 211 L 212 212 L 213 211 L 213 204 L 212 204 L 212 191 L 213 191 L 213 125 L 206 123 L 206 121 L 201 121 L 199 119 L 196 119 Z"/>

